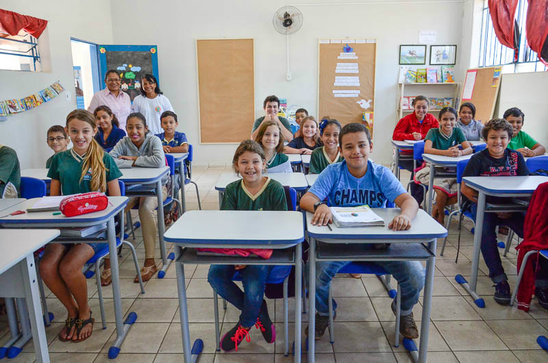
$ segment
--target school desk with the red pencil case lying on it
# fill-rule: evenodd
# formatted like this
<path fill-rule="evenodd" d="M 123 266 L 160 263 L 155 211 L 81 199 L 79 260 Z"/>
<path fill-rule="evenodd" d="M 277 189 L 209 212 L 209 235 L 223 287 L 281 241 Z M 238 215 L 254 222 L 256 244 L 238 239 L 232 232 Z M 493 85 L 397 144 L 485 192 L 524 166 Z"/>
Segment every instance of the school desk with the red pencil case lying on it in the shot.
<path fill-rule="evenodd" d="M 27 199 L 23 203 L 16 204 L 12 208 L 3 210 L 3 215 L 16 210 L 27 210 L 31 208 L 39 198 Z M 118 265 L 118 253 L 116 251 L 116 230 L 114 227 L 114 216 L 123 212 L 127 205 L 127 197 L 108 197 L 110 202 L 105 210 L 99 212 L 82 214 L 81 216 L 66 217 L 63 214 L 53 214 L 52 212 L 32 212 L 18 214 L 16 216 L 3 216 L 0 218 L 0 225 L 5 228 L 63 228 L 63 227 L 90 227 L 107 223 L 107 240 L 110 252 L 110 268 L 112 271 L 112 297 L 114 299 L 114 316 L 116 318 L 116 340 L 109 349 L 109 357 L 116 357 L 120 351 L 120 346 L 129 331 L 131 325 L 136 321 L 137 314 L 129 313 L 126 320 L 123 321 L 123 310 L 120 293 L 120 277 Z M 162 220 L 163 221 L 163 220 Z M 97 238 L 75 238 L 60 237 L 55 242 L 62 243 L 81 243 L 96 242 Z M 40 316 L 40 321 L 41 321 Z"/>

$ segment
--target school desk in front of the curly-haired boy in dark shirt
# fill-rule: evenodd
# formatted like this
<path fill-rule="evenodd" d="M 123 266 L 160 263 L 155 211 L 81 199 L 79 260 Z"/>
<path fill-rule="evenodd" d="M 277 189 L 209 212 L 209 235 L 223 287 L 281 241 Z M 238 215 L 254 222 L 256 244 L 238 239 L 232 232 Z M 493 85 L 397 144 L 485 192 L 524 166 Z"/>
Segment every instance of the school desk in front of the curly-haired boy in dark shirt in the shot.
<path fill-rule="evenodd" d="M 505 210 L 486 209 L 486 196 L 492 197 L 527 197 L 533 194 L 539 184 L 548 182 L 548 177 L 538 175 L 526 177 L 463 177 L 466 186 L 477 190 L 477 213 L 475 217 L 474 247 L 472 257 L 472 273 L 470 284 L 462 277 L 457 275 L 455 279 L 462 287 L 474 298 L 474 302 L 479 308 L 484 308 L 485 302 L 475 292 L 477 284 L 477 266 L 479 265 L 479 251 L 482 246 L 482 229 L 484 224 L 484 212 L 512 212 L 509 206 Z M 523 208 L 519 208 L 523 210 Z"/>

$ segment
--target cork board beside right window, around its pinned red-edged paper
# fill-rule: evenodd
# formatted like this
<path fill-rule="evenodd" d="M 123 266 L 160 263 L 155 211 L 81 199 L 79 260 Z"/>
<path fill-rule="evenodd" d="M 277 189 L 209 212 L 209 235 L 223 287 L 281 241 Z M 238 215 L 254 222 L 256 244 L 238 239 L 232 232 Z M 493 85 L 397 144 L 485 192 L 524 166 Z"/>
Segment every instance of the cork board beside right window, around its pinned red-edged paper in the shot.
<path fill-rule="evenodd" d="M 475 105 L 475 120 L 486 123 L 493 118 L 493 112 L 495 111 L 495 104 L 497 103 L 497 95 L 499 94 L 500 86 L 500 72 L 497 80 L 493 80 L 495 76 L 495 68 L 472 68 L 466 71 L 477 71 L 475 76 L 475 84 L 472 92 L 472 99 L 463 99 L 464 83 L 462 85 L 462 92 L 460 93 L 460 103 L 471 102 Z M 466 75 L 464 75 L 464 82 L 466 82 Z"/>

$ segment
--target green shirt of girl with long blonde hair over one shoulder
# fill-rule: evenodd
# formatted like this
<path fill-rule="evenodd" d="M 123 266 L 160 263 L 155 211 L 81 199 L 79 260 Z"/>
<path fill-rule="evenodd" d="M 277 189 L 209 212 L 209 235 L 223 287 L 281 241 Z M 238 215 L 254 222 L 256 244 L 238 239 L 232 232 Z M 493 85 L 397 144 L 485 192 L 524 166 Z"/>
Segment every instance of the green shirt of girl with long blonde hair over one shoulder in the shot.
<path fill-rule="evenodd" d="M 85 154 L 80 156 L 75 153 L 73 149 L 62 151 L 53 155 L 53 160 L 51 160 L 51 166 L 49 167 L 47 176 L 61 182 L 61 191 L 63 195 L 97 191 L 91 190 L 91 170 L 84 175 L 82 182 L 80 182 L 84 157 Z M 112 156 L 108 153 L 103 152 L 103 163 L 107 168 L 107 182 L 122 176 L 120 169 L 116 166 L 116 163 L 114 163 L 114 159 L 112 159 Z"/>

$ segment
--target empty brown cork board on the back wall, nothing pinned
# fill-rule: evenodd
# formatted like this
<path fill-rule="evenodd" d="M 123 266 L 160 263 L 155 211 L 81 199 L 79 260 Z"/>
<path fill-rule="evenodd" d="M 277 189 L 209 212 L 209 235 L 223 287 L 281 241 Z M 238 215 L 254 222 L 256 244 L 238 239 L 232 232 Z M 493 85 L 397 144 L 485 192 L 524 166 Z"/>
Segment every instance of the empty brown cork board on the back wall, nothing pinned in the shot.
<path fill-rule="evenodd" d="M 253 39 L 196 41 L 200 143 L 240 143 L 255 120 Z"/>

